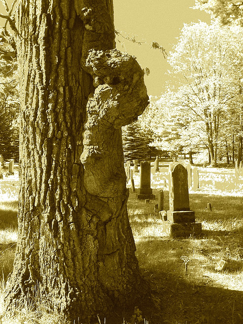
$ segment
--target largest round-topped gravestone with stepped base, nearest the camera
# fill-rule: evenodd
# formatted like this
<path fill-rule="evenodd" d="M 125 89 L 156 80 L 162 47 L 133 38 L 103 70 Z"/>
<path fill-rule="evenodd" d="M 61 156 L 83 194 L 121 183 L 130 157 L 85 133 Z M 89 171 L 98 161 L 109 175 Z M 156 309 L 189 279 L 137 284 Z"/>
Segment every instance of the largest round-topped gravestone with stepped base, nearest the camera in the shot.
<path fill-rule="evenodd" d="M 163 226 L 172 237 L 200 234 L 201 223 L 195 222 L 195 213 L 190 210 L 187 170 L 177 164 L 169 170 L 169 175 L 170 210 Z"/>

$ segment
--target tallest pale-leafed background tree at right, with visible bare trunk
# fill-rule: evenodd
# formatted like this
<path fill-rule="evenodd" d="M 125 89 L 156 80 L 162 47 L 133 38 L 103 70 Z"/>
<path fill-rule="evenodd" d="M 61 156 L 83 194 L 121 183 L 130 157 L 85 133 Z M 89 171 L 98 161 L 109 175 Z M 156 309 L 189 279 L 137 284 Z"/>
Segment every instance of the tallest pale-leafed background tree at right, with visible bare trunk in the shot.
<path fill-rule="evenodd" d="M 211 166 L 217 165 L 222 116 L 230 101 L 238 96 L 242 67 L 236 64 L 239 56 L 235 49 L 241 39 L 239 28 L 223 28 L 217 23 L 208 26 L 202 22 L 185 25 L 169 58 L 172 71 L 180 74 L 187 84 L 180 88 L 178 104 L 187 115 L 204 123 Z M 233 57 L 238 73 L 230 72 Z"/>

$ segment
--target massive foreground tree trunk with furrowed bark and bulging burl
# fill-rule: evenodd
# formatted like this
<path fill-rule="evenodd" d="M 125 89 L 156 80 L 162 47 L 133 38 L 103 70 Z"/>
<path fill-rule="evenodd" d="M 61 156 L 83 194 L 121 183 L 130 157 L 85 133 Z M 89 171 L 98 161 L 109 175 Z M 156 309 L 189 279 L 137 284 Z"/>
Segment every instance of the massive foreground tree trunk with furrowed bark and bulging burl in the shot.
<path fill-rule="evenodd" d="M 121 126 L 148 97 L 135 59 L 112 50 L 112 8 L 111 0 L 18 5 L 21 189 L 7 309 L 37 287 L 70 320 L 89 323 L 143 290 Z"/>

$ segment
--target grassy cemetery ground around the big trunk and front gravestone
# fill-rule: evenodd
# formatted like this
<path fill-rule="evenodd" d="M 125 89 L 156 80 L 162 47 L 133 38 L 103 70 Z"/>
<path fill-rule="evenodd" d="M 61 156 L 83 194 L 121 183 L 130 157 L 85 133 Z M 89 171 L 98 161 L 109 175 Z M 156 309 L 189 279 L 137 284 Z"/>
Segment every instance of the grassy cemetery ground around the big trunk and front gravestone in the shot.
<path fill-rule="evenodd" d="M 153 193 L 157 197 L 157 190 Z M 128 212 L 140 269 L 150 284 L 152 297 L 146 305 L 138 305 L 142 316 L 136 310 L 136 316 L 127 321 L 133 324 L 243 323 L 243 196 L 190 193 L 190 207 L 195 211 L 196 220 L 202 223 L 203 233 L 199 237 L 172 239 L 163 232 L 162 221 L 154 213 L 157 201 L 145 204 L 137 200 L 136 194 L 130 193 Z M 165 191 L 165 210 L 169 209 L 168 196 Z M 207 210 L 207 203 L 211 203 L 212 212 Z M 2 286 L 13 267 L 17 205 L 17 200 L 0 203 Z M 190 259 L 187 272 L 183 256 Z M 216 271 L 221 259 L 227 261 L 227 266 L 223 271 Z M 2 295 L 0 292 L 0 300 Z M 66 323 L 41 303 L 40 309 L 42 316 L 38 319 L 25 306 L 15 320 L 5 318 L 2 323 Z"/>

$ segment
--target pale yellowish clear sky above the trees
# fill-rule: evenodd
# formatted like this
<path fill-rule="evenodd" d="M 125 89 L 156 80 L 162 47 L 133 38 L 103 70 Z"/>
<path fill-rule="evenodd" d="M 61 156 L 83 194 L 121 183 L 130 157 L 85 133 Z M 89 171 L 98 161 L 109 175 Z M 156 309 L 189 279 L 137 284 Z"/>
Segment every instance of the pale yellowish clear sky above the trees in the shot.
<path fill-rule="evenodd" d="M 12 3 L 12 0 L 7 1 Z M 190 9 L 194 0 L 113 0 L 113 3 L 115 28 L 130 36 L 137 35 L 138 41 L 147 43 L 139 46 L 124 41 L 122 47 L 117 42 L 117 48 L 136 56 L 142 68 L 150 69 L 150 75 L 145 75 L 148 95 L 159 96 L 169 79 L 166 72 L 170 66 L 158 50 L 150 49 L 151 43 L 157 42 L 169 53 L 176 44 L 183 23 L 198 22 L 198 19 L 210 23 L 210 16 Z M 1 1 L 0 12 L 6 14 Z M 0 24 L 3 24 L 2 19 Z M 123 41 L 122 37 L 119 39 Z"/>

